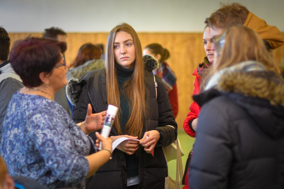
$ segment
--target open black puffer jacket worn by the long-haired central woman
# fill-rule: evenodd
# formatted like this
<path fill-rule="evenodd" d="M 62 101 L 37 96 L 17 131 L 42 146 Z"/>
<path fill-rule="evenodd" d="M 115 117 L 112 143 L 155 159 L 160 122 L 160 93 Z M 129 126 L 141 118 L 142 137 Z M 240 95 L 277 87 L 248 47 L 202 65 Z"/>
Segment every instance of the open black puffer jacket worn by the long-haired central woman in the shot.
<path fill-rule="evenodd" d="M 149 57 L 148 57 L 149 58 Z M 154 149 L 154 157 L 144 151 L 140 145 L 139 155 L 139 178 L 138 188 L 165 188 L 165 177 L 167 177 L 167 163 L 162 147 L 172 144 L 177 139 L 177 123 L 174 120 L 172 107 L 162 80 L 155 76 L 157 87 L 157 99 L 154 83 L 154 75 L 151 72 L 153 60 L 146 61 L 145 80 L 149 96 L 146 96 L 150 107 L 150 113 L 144 121 L 143 134 L 146 131 L 157 130 L 160 132 L 160 139 Z M 157 63 L 155 63 L 157 64 Z M 155 65 L 156 66 L 156 65 Z M 105 69 L 88 72 L 79 83 L 71 80 L 67 86 L 67 96 L 76 102 L 73 119 L 75 122 L 85 120 L 87 105 L 91 103 L 94 112 L 101 112 L 107 109 L 107 92 Z M 173 129 L 170 126 L 174 126 Z M 115 127 L 112 127 L 110 136 L 117 136 Z M 90 133 L 93 140 L 95 134 Z M 91 153 L 94 149 L 91 150 Z M 112 159 L 100 167 L 98 171 L 86 180 L 86 189 L 112 188 L 121 189 L 127 187 L 126 161 L 124 152 L 115 149 Z"/>

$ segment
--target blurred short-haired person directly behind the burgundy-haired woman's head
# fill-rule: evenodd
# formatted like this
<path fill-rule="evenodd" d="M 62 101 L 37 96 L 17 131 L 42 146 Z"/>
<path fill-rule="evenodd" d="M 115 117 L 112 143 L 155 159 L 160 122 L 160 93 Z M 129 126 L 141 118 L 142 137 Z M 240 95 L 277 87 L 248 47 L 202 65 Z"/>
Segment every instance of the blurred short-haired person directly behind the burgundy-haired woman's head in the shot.
<path fill-rule="evenodd" d="M 54 40 L 58 40 L 58 41 L 66 43 L 67 33 L 58 27 L 51 27 L 51 28 L 45 29 L 44 33 L 42 34 L 42 37 L 54 39 Z M 64 61 L 66 62 L 65 56 L 64 56 Z M 69 105 L 66 99 L 65 89 L 66 89 L 65 86 L 63 86 L 62 89 L 59 89 L 54 96 L 54 100 L 55 102 L 59 103 L 71 115 L 72 112 L 69 108 Z"/>

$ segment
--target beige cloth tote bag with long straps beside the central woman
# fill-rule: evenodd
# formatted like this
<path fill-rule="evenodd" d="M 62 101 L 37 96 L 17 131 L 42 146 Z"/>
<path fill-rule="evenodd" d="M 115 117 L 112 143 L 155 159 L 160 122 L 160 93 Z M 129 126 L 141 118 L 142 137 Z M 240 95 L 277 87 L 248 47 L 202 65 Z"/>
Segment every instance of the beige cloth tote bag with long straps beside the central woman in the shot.
<path fill-rule="evenodd" d="M 170 176 L 165 178 L 165 189 L 182 189 L 182 177 L 183 177 L 183 169 L 182 169 L 182 156 L 180 153 L 179 143 L 177 142 L 177 172 L 176 172 L 176 180 L 172 179 Z M 167 156 L 165 150 L 163 148 L 164 155 L 167 161 Z M 169 172 L 168 172 L 169 174 Z M 179 180 L 180 177 L 180 180 Z"/>

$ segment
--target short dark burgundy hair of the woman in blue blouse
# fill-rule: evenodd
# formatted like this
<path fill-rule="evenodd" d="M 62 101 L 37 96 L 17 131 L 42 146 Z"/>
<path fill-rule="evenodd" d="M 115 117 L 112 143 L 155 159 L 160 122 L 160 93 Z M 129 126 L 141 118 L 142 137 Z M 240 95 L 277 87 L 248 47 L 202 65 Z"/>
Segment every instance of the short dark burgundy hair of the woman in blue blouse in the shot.
<path fill-rule="evenodd" d="M 10 62 L 15 72 L 27 87 L 42 84 L 39 78 L 41 72 L 47 74 L 60 61 L 60 52 L 67 49 L 65 42 L 54 39 L 27 37 L 13 44 L 10 52 Z"/>

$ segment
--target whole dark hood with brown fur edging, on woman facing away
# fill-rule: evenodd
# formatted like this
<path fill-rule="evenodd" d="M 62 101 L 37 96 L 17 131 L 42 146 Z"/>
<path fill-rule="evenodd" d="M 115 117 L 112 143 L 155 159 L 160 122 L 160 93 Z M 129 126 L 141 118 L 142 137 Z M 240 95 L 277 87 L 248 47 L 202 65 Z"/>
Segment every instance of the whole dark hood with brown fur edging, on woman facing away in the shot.
<path fill-rule="evenodd" d="M 252 64 L 249 64 L 250 69 Z M 228 68 L 220 74 L 217 85 L 194 96 L 194 100 L 203 105 L 215 97 L 227 96 L 243 107 L 265 133 L 273 138 L 283 136 L 283 78 L 273 71 L 267 71 L 262 65 L 258 69 L 247 68 Z"/>

